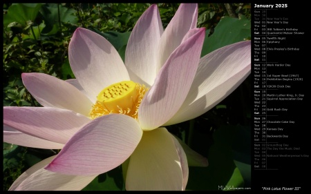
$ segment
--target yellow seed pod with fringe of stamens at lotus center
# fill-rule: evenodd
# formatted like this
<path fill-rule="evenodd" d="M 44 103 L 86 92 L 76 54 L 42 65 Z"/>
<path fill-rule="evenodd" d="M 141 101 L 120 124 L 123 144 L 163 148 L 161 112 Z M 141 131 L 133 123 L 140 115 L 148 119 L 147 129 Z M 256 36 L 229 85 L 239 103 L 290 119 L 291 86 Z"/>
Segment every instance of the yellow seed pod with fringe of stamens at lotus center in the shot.
<path fill-rule="evenodd" d="M 91 119 L 112 113 L 138 119 L 138 108 L 148 89 L 133 81 L 121 81 L 104 88 L 91 108 Z"/>

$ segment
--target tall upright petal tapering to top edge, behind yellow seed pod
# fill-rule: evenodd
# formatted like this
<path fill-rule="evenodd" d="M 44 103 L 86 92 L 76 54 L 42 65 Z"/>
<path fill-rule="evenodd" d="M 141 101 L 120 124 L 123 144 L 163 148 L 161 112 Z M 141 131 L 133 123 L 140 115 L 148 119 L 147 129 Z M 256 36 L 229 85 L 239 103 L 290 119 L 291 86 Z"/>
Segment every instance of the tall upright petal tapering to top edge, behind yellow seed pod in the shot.
<path fill-rule="evenodd" d="M 126 46 L 125 66 L 129 70 L 131 80 L 147 86 L 153 84 L 162 33 L 158 7 L 153 4 L 138 19 Z"/>

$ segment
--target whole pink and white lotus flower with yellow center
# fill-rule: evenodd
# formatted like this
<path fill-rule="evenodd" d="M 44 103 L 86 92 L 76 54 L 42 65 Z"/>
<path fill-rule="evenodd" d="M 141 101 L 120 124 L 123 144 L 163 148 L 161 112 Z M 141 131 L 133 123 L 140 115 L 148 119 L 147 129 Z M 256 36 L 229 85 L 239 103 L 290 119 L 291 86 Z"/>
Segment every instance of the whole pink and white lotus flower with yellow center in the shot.
<path fill-rule="evenodd" d="M 23 173 L 10 190 L 80 190 L 126 159 L 126 190 L 185 190 L 187 154 L 164 126 L 193 119 L 250 73 L 250 42 L 200 59 L 205 28 L 197 4 L 181 4 L 165 30 L 156 5 L 136 23 L 125 62 L 109 41 L 77 28 L 69 45 L 76 79 L 23 73 L 44 107 L 3 107 L 4 142 L 62 149 Z M 183 145 L 184 146 L 184 145 Z"/>

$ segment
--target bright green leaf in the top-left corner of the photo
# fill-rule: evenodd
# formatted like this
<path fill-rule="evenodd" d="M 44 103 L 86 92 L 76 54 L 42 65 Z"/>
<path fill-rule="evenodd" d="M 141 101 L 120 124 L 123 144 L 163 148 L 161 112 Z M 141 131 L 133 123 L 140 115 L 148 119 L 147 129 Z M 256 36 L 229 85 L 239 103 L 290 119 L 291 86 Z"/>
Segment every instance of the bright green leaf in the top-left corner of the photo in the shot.
<path fill-rule="evenodd" d="M 8 13 L 3 15 L 3 25 L 8 26 L 16 21 L 25 27 L 29 20 L 35 21 L 41 6 L 41 3 L 13 3 Z"/>

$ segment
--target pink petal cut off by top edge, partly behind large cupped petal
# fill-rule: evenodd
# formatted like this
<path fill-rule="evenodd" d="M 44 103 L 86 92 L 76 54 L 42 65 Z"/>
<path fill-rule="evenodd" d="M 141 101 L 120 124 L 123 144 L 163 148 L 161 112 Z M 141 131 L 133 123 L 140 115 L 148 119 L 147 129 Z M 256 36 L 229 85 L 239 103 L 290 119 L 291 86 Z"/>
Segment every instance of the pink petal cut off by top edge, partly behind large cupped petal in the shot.
<path fill-rule="evenodd" d="M 180 46 L 187 32 L 196 28 L 197 19 L 198 5 L 196 3 L 180 3 L 176 14 L 160 39 L 158 70 L 162 68 L 171 53 Z"/>

